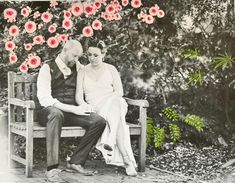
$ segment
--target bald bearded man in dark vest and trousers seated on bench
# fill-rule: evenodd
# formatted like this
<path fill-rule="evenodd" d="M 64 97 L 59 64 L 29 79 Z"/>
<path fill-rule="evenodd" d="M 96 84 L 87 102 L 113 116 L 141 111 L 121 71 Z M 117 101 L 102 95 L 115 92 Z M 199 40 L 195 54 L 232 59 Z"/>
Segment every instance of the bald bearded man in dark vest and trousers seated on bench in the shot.
<path fill-rule="evenodd" d="M 65 182 L 59 176 L 59 142 L 62 126 L 81 126 L 86 129 L 79 146 L 73 153 L 67 168 L 84 175 L 92 175 L 83 168 L 89 151 L 96 144 L 105 128 L 105 120 L 88 113 L 89 106 L 77 106 L 75 102 L 77 69 L 76 62 L 82 55 L 80 42 L 68 40 L 55 61 L 45 63 L 38 75 L 37 97 L 43 107 L 40 124 L 47 127 L 48 182 Z"/>

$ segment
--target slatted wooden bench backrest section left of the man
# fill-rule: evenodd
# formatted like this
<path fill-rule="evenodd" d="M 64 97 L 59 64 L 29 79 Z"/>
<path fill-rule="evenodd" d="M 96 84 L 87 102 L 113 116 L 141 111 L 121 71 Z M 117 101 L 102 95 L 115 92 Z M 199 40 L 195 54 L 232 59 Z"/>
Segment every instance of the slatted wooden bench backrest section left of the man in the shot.
<path fill-rule="evenodd" d="M 36 111 L 40 108 L 37 99 L 37 73 L 34 74 L 24 74 L 8 72 L 8 97 L 18 98 L 21 100 L 33 100 L 35 102 Z M 16 121 L 24 121 L 23 109 L 15 108 Z M 34 115 L 36 120 L 36 115 Z"/>

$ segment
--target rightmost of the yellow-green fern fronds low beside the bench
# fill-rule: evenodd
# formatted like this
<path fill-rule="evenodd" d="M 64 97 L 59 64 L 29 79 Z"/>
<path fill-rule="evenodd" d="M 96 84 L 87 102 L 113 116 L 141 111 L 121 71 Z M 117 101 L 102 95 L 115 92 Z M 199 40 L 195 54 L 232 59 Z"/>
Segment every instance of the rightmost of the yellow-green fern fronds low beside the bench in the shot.
<path fill-rule="evenodd" d="M 185 117 L 184 122 L 194 127 L 198 132 L 202 132 L 205 127 L 203 119 L 196 115 L 188 114 Z"/>

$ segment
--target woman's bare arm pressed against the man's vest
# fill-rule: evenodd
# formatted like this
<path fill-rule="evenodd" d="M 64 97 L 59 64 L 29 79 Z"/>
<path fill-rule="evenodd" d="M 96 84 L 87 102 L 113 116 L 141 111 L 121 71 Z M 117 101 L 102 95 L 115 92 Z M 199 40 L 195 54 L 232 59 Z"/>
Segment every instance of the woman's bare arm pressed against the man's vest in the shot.
<path fill-rule="evenodd" d="M 85 68 L 79 69 L 77 74 L 77 85 L 76 85 L 76 95 L 75 95 L 75 100 L 78 105 L 86 104 L 86 102 L 84 101 L 84 92 L 83 92 L 84 74 L 85 74 Z"/>

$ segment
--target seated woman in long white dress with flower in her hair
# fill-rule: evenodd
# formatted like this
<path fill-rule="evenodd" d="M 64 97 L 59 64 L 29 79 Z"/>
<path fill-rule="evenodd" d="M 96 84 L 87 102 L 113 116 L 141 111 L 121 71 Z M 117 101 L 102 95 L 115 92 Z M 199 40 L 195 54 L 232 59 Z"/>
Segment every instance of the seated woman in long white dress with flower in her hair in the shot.
<path fill-rule="evenodd" d="M 122 82 L 117 69 L 103 62 L 105 53 L 106 48 L 102 41 L 93 43 L 88 48 L 90 64 L 78 73 L 76 100 L 79 105 L 91 105 L 94 111 L 107 121 L 96 145 L 106 163 L 124 166 L 127 175 L 136 176 L 136 162 L 125 121 L 127 104 L 122 98 Z"/>

